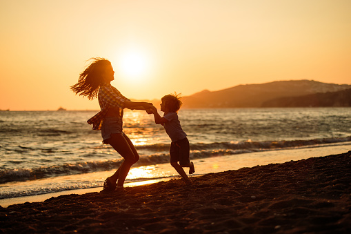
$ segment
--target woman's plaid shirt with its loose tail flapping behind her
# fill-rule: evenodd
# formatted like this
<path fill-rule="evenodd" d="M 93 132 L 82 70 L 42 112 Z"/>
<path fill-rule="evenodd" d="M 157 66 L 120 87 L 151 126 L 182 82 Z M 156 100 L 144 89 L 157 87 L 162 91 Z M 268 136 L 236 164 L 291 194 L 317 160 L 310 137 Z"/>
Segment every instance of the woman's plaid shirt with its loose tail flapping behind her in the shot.
<path fill-rule="evenodd" d="M 92 129 L 94 130 L 101 130 L 103 117 L 106 115 L 110 106 L 118 107 L 120 110 L 119 114 L 123 117 L 124 102 L 130 101 L 130 99 L 121 95 L 121 92 L 110 84 L 100 86 L 98 99 L 101 110 L 97 115 L 94 115 L 87 121 L 88 124 L 92 124 Z"/>

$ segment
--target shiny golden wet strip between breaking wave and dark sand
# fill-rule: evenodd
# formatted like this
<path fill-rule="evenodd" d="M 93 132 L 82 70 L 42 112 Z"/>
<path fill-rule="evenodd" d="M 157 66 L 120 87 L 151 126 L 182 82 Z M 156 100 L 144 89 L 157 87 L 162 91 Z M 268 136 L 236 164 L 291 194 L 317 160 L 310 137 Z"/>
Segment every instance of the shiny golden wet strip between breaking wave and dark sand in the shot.
<path fill-rule="evenodd" d="M 195 165 L 197 165 L 197 172 L 195 173 L 195 176 L 199 175 L 204 175 L 208 173 L 219 173 L 223 172 L 226 170 L 237 170 L 240 168 L 245 168 L 245 167 L 253 167 L 253 166 L 264 166 L 268 164 L 282 164 L 284 162 L 289 162 L 291 160 L 297 161 L 301 159 L 308 159 L 309 157 L 323 157 L 325 155 L 332 155 L 332 154 L 340 154 L 344 152 L 348 152 L 350 148 L 349 144 L 331 144 L 328 145 L 328 147 L 314 147 L 314 148 L 298 148 L 298 149 L 283 149 L 283 150 L 272 150 L 272 151 L 262 151 L 262 152 L 255 152 L 255 153 L 245 153 L 239 155 L 226 155 L 226 156 L 221 156 L 221 157 L 208 157 L 205 158 L 205 162 L 203 159 L 192 159 Z M 210 165 L 210 167 L 208 166 Z M 136 167 L 138 168 L 138 167 Z M 132 168 L 134 170 L 134 168 Z M 132 172 L 131 170 L 131 172 Z M 167 181 L 170 178 L 177 176 L 177 173 L 175 170 L 170 166 L 168 163 L 167 164 L 155 164 L 154 168 L 149 170 L 157 170 L 157 171 L 163 171 L 166 172 L 167 177 L 162 177 L 161 179 L 154 179 L 150 178 L 145 180 L 144 182 L 126 182 L 125 186 L 138 186 L 143 183 L 150 184 L 150 182 L 155 181 Z M 201 174 L 198 174 L 200 173 Z M 79 174 L 79 175 L 67 175 L 63 177 L 54 177 L 54 178 L 48 178 L 44 180 L 38 180 L 37 182 L 40 182 L 37 184 L 37 186 L 46 188 L 48 184 L 55 184 L 57 182 L 61 182 L 61 179 L 63 181 L 70 180 L 74 182 L 83 182 L 86 181 L 86 179 L 89 179 L 90 177 L 101 177 L 105 178 L 110 173 L 114 173 L 114 170 L 110 171 L 105 171 L 105 172 L 93 172 L 93 173 L 88 173 L 88 174 Z M 131 173 L 132 174 L 132 173 Z M 173 175 L 174 174 L 174 175 Z M 172 175 L 172 176 L 170 176 Z M 170 177 L 168 177 L 170 176 Z M 127 177 L 128 178 L 128 177 Z M 44 182 L 43 181 L 46 181 Z M 19 182 L 16 186 L 19 188 L 27 187 L 28 183 L 33 183 L 32 181 L 28 182 Z M 34 181 L 35 183 L 35 181 Z M 75 194 L 83 194 L 83 193 L 88 193 L 88 192 L 99 192 L 102 190 L 102 184 L 103 181 L 100 183 L 101 186 L 97 187 L 92 187 L 92 188 L 77 188 L 74 190 L 65 190 L 65 191 L 56 191 L 53 193 L 43 193 L 43 194 L 38 194 L 38 195 L 26 195 L 26 196 L 21 196 L 21 197 L 8 197 L 8 198 L 2 198 L 0 199 L 0 206 L 7 207 L 12 204 L 21 204 L 25 202 L 43 202 L 46 199 L 49 199 L 51 197 L 57 197 L 59 195 L 69 195 L 71 193 Z M 47 187 L 50 188 L 50 187 Z"/>

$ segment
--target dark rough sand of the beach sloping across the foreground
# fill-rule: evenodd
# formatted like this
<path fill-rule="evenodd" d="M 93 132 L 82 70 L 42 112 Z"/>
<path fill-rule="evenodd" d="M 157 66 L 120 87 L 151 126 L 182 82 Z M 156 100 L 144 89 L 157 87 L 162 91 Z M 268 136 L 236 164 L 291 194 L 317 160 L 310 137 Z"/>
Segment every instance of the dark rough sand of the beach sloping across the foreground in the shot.
<path fill-rule="evenodd" d="M 351 233 L 351 151 L 0 208 L 3 233 Z"/>

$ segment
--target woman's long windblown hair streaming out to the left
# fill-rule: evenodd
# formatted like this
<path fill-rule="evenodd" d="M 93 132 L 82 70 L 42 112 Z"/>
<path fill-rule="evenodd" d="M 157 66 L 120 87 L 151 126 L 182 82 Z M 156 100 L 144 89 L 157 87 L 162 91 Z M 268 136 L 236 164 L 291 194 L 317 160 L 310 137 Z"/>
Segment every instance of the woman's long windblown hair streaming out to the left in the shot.
<path fill-rule="evenodd" d="M 106 66 L 111 66 L 110 61 L 103 58 L 91 58 L 92 60 L 88 68 L 79 74 L 78 83 L 70 87 L 70 90 L 79 96 L 88 97 L 89 100 L 97 97 L 99 88 L 103 83 L 101 73 Z"/>

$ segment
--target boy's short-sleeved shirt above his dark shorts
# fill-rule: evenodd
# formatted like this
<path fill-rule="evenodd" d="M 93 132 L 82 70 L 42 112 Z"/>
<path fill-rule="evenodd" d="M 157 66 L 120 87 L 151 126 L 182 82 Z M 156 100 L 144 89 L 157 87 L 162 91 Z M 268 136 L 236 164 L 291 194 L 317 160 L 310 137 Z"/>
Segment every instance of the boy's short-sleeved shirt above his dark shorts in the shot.
<path fill-rule="evenodd" d="M 181 122 L 178 119 L 177 113 L 167 113 L 166 115 L 163 115 L 163 118 L 168 120 L 168 122 L 163 124 L 163 127 L 172 142 L 176 142 L 179 139 L 184 139 L 186 137 L 186 133 L 181 128 Z"/>

